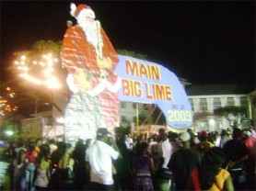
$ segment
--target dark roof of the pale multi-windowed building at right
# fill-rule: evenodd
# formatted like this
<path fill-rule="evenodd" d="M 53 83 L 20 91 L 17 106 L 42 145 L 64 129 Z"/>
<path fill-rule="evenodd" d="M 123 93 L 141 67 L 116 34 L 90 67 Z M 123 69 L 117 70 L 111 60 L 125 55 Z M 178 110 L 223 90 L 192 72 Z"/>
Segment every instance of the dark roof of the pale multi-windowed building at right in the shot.
<path fill-rule="evenodd" d="M 247 95 L 254 89 L 249 85 L 239 84 L 192 84 L 186 87 L 186 93 L 187 96 Z"/>

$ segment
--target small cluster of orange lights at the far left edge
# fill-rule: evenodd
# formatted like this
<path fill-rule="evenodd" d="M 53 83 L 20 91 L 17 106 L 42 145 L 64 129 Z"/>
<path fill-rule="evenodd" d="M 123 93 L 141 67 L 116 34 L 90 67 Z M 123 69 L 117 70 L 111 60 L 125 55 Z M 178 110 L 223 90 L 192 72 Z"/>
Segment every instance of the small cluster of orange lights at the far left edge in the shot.
<path fill-rule="evenodd" d="M 10 87 L 6 87 L 6 91 L 3 91 L 0 95 L 0 116 L 6 116 L 17 111 L 16 106 L 12 106 L 11 101 L 15 98 L 15 93 Z"/>

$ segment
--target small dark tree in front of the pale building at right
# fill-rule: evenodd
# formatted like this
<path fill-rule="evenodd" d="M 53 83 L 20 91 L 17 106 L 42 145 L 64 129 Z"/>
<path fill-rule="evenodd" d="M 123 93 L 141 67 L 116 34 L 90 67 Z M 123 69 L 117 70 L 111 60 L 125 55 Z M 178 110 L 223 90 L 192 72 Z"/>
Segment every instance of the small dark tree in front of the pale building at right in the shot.
<path fill-rule="evenodd" d="M 232 128 L 236 128 L 241 125 L 243 121 L 249 120 L 247 107 L 220 107 L 215 109 L 214 113 L 215 115 L 226 118 Z"/>

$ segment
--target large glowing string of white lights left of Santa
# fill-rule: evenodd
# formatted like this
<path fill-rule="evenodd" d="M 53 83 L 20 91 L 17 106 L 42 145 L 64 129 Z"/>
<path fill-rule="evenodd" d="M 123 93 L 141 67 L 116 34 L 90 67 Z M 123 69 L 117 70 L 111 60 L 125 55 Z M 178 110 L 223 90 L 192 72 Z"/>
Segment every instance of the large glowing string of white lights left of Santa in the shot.
<path fill-rule="evenodd" d="M 31 61 L 26 55 L 22 55 L 15 61 L 18 75 L 33 84 L 44 84 L 48 88 L 60 88 L 61 84 L 54 76 L 54 63 L 57 59 L 52 54 L 44 54 L 40 61 Z"/>

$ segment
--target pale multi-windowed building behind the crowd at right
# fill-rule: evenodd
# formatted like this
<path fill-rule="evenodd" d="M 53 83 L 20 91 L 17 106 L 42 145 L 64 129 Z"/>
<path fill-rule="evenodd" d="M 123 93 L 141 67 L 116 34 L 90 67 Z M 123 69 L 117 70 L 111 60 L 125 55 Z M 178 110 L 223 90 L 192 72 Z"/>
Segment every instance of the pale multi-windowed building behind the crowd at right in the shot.
<path fill-rule="evenodd" d="M 250 120 L 235 118 L 230 114 L 227 118 L 215 115 L 215 109 L 220 107 L 247 107 L 247 118 L 251 118 L 250 94 L 247 86 L 237 84 L 205 84 L 190 85 L 186 88 L 193 111 L 193 128 L 195 131 L 220 131 L 239 123 L 239 128 L 246 129 Z M 255 107 L 254 107 L 255 108 Z"/>

